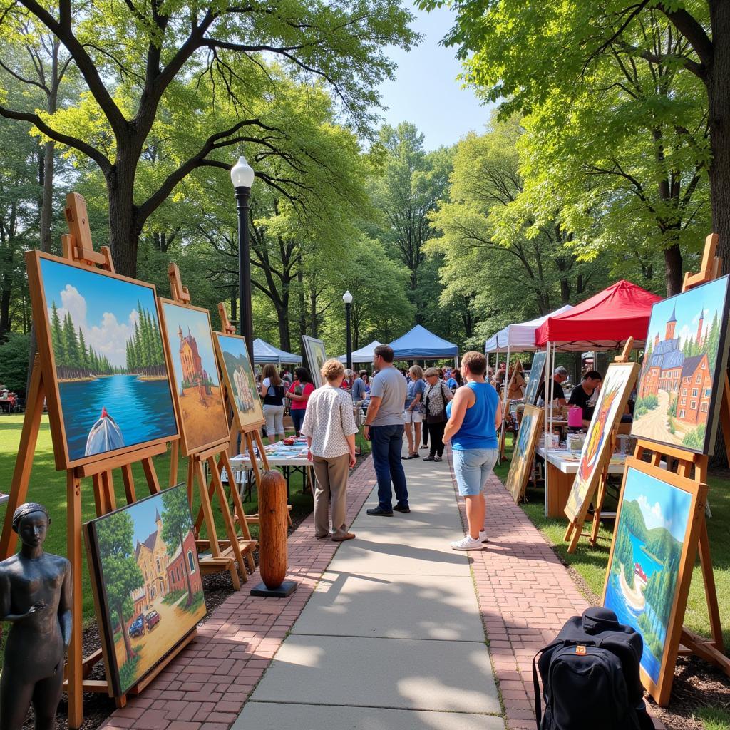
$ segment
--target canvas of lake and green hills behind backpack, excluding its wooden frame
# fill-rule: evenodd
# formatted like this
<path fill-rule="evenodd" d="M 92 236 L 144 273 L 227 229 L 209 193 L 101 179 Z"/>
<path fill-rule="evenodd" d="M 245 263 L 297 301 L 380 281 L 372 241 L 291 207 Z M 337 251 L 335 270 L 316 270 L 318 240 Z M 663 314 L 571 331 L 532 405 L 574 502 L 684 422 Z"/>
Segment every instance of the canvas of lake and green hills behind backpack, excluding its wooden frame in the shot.
<path fill-rule="evenodd" d="M 641 666 L 658 685 L 693 495 L 647 469 L 626 470 L 603 604 L 642 635 Z"/>

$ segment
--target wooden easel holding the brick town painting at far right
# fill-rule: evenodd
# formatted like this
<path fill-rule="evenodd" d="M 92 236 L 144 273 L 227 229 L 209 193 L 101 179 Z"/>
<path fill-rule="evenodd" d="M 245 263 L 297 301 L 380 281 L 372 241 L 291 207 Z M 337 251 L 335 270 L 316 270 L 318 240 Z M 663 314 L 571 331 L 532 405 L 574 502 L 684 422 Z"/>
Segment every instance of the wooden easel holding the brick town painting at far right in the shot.
<path fill-rule="evenodd" d="M 715 251 L 718 245 L 718 234 L 710 234 L 704 242 L 704 253 L 702 254 L 702 268 L 696 274 L 685 274 L 682 291 L 688 291 L 695 286 L 706 284 L 718 278 L 721 272 L 722 260 Z M 727 374 L 723 383 L 722 400 L 720 403 L 720 427 L 725 439 L 725 447 L 730 456 L 730 383 Z M 696 482 L 707 484 L 707 464 L 709 458 L 705 454 L 697 454 L 678 446 L 656 444 L 639 439 L 637 442 L 636 458 L 648 458 L 651 464 L 658 466 L 664 459 L 667 468 L 672 462 L 677 464 L 677 474 L 680 477 L 687 477 Z M 710 617 L 711 639 L 699 637 L 685 626 L 682 628 L 680 639 L 680 654 L 695 654 L 702 657 L 710 664 L 718 666 L 730 676 L 730 658 L 725 656 L 723 642 L 723 630 L 720 621 L 720 610 L 718 609 L 718 593 L 715 588 L 715 575 L 712 572 L 712 555 L 710 553 L 710 537 L 707 533 L 707 513 L 702 511 L 700 516 L 702 524 L 699 529 L 699 562 L 702 567 L 702 580 L 704 582 L 704 594 L 707 599 L 707 613 Z M 681 617 L 683 620 L 684 617 Z M 666 704 L 669 696 L 655 698 L 658 704 Z"/>

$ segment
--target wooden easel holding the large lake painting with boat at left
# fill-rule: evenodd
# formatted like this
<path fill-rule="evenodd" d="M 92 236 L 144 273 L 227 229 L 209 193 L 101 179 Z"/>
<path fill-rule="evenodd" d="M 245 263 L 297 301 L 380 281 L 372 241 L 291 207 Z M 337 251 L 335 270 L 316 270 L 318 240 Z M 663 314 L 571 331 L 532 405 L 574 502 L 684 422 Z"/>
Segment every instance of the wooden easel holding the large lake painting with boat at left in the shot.
<path fill-rule="evenodd" d="M 78 193 L 69 193 L 66 196 L 66 221 L 69 226 L 69 234 L 61 237 L 63 244 L 64 258 L 77 264 L 88 266 L 90 269 L 99 268 L 107 272 L 114 272 L 112 255 L 109 247 L 102 246 L 101 253 L 93 250 L 91 242 L 91 229 L 86 214 L 86 201 Z M 26 261 L 33 257 L 35 252 L 28 251 Z M 38 312 L 42 305 L 42 297 L 39 291 L 31 291 L 31 301 L 34 302 L 34 316 L 42 317 Z M 50 371 L 50 354 L 46 352 L 48 343 L 45 338 L 39 337 L 39 353 L 36 354 L 31 371 L 30 388 L 28 389 L 27 407 L 23 418 L 23 429 L 20 434 L 20 445 L 18 456 L 15 459 L 15 471 L 12 476 L 7 511 L 5 512 L 4 524 L 0 536 L 0 559 L 4 560 L 15 552 L 18 536 L 12 530 L 12 514 L 26 501 L 28 495 L 28 483 L 31 476 L 31 468 L 38 442 L 38 432 L 43 415 L 44 401 L 48 397 L 48 409 L 50 415 L 51 435 L 54 443 L 63 439 L 60 431 L 60 407 L 55 402 L 53 387 L 53 372 Z M 177 445 L 179 437 L 173 437 Z M 172 440 L 172 439 L 170 439 Z M 137 495 L 134 486 L 132 466 L 141 464 L 145 472 L 147 487 L 150 494 L 160 491 L 153 457 L 166 452 L 166 442 L 142 447 L 128 453 L 110 458 L 101 458 L 91 464 L 76 466 L 66 469 L 66 549 L 67 557 L 72 565 L 72 634 L 69 644 L 69 653 L 66 660 L 66 679 L 64 689 L 68 695 L 69 728 L 77 729 L 83 720 L 83 692 L 100 692 L 113 695 L 110 683 L 104 680 L 90 680 L 88 675 L 95 664 L 101 661 L 102 650 L 96 650 L 90 656 L 84 657 L 82 651 L 82 626 L 83 626 L 83 601 L 82 601 L 82 522 L 81 522 L 81 480 L 84 477 L 91 477 L 93 485 L 94 504 L 96 515 L 107 514 L 116 509 L 116 497 L 114 488 L 113 469 L 120 469 L 124 483 L 124 491 L 128 504 L 136 501 Z M 172 661 L 189 642 L 195 637 L 195 631 L 188 634 L 180 645 L 170 653 L 166 659 L 158 664 L 150 675 L 147 675 L 142 682 L 132 688 L 128 694 L 138 694 L 149 684 L 164 666 Z M 115 697 L 118 707 L 126 705 L 127 695 Z"/>

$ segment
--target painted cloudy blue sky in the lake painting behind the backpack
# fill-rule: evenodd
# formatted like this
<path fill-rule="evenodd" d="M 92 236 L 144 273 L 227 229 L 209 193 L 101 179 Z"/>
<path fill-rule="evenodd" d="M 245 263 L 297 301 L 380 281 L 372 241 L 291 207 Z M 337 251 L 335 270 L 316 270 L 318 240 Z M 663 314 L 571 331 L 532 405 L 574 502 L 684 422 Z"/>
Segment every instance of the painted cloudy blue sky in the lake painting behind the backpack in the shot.
<path fill-rule="evenodd" d="M 636 500 L 648 529 L 666 527 L 680 542 L 684 542 L 687 515 L 692 496 L 637 469 L 629 469 L 623 499 Z"/>

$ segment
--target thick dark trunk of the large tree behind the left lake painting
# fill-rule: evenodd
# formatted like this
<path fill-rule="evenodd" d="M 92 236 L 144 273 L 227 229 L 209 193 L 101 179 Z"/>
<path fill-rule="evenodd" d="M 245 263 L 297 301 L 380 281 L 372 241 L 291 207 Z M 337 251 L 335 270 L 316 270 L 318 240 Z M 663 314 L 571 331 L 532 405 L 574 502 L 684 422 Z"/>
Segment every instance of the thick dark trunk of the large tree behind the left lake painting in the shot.
<path fill-rule="evenodd" d="M 107 175 L 109 197 L 109 241 L 118 274 L 137 277 L 140 226 L 134 206 L 134 153 L 121 152 Z"/>

